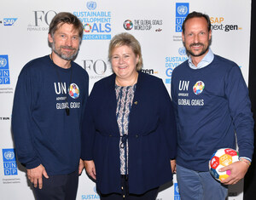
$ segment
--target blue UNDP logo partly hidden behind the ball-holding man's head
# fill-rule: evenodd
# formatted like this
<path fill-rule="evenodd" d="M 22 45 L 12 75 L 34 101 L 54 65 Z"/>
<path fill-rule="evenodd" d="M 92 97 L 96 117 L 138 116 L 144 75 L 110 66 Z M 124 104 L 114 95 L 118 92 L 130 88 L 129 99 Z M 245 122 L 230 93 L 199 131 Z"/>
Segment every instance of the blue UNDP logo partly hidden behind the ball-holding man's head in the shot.
<path fill-rule="evenodd" d="M 189 14 L 189 3 L 176 3 L 175 31 L 181 32 L 183 21 Z"/>

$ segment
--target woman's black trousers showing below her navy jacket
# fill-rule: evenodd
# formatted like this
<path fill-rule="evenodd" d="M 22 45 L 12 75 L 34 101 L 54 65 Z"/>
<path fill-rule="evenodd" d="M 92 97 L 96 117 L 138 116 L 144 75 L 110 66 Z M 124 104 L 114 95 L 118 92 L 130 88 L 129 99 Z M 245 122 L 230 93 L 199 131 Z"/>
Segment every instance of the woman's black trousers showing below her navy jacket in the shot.
<path fill-rule="evenodd" d="M 111 193 L 101 194 L 101 200 L 155 200 L 158 194 L 159 187 L 146 191 L 143 194 L 131 194 L 128 187 L 128 176 L 121 175 L 121 190 L 122 194 Z"/>

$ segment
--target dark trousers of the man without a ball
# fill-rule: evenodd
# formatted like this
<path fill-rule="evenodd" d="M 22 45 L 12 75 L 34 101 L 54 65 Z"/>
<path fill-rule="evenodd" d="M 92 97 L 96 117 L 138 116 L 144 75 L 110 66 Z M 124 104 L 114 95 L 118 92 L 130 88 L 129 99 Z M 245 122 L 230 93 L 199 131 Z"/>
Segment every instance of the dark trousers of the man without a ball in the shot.
<path fill-rule="evenodd" d="M 75 200 L 78 191 L 79 172 L 65 175 L 50 175 L 43 178 L 43 188 L 34 188 L 37 200 Z"/>

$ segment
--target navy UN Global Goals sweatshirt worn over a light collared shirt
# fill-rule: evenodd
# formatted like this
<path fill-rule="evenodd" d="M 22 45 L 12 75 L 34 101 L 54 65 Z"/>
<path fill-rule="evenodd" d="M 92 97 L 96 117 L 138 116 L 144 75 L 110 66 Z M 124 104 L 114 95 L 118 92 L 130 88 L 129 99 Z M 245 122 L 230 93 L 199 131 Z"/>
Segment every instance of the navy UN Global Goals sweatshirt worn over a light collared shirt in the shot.
<path fill-rule="evenodd" d="M 252 158 L 251 103 L 236 63 L 214 55 L 211 64 L 193 70 L 184 61 L 172 73 L 172 101 L 178 165 L 207 171 L 214 151 L 236 149 L 236 135 L 240 157 Z"/>

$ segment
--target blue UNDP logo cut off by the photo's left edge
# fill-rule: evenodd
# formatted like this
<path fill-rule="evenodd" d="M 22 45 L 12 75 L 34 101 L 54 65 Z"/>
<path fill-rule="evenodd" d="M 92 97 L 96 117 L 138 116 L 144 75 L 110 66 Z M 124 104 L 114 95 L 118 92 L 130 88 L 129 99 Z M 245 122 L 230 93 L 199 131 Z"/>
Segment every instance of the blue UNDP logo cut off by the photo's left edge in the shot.
<path fill-rule="evenodd" d="M 9 84 L 9 61 L 8 55 L 0 55 L 0 84 Z"/>

